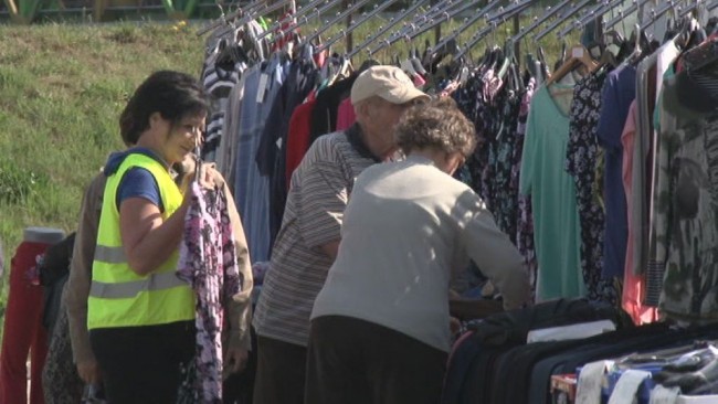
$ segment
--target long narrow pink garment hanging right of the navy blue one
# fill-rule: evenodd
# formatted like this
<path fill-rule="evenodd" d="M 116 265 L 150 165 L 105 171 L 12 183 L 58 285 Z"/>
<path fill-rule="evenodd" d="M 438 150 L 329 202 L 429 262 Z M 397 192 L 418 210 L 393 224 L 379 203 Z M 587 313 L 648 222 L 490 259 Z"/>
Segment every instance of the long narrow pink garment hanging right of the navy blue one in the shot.
<path fill-rule="evenodd" d="M 636 132 L 636 102 L 631 104 L 629 117 L 621 135 L 623 145 L 623 188 L 625 189 L 627 212 L 632 212 L 633 181 L 631 167 L 633 167 L 633 146 Z M 623 272 L 623 309 L 631 316 L 637 326 L 658 320 L 658 310 L 643 305 L 646 294 L 645 275 L 633 274 L 633 227 L 629 220 L 629 242 L 626 246 L 625 270 Z"/>

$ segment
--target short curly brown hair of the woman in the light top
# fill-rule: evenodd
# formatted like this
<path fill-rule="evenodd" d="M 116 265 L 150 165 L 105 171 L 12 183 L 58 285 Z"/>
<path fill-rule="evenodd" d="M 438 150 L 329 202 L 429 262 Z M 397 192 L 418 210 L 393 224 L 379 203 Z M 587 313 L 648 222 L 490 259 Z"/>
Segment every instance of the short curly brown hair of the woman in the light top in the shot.
<path fill-rule="evenodd" d="M 395 128 L 404 153 L 426 148 L 468 157 L 476 147 L 476 129 L 450 97 L 437 97 L 410 107 Z"/>

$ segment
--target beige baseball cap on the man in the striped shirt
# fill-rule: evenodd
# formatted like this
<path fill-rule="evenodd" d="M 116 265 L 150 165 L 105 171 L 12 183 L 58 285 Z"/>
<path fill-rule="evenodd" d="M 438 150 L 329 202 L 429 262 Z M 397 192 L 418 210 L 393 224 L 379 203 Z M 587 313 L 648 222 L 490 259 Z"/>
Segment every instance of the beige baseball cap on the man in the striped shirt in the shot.
<path fill-rule="evenodd" d="M 371 66 L 363 71 L 351 86 L 351 104 L 374 95 L 392 104 L 430 99 L 429 95 L 416 88 L 411 78 L 395 66 Z"/>

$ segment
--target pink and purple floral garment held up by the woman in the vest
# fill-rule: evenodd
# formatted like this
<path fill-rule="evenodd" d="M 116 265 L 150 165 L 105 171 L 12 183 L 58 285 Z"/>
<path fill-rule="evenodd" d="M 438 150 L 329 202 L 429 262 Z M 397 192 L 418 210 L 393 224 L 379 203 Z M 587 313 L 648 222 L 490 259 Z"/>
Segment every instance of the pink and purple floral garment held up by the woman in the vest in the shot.
<path fill-rule="evenodd" d="M 234 237 L 223 190 L 192 183 L 192 203 L 184 221 L 178 276 L 197 293 L 197 353 L 193 374 L 181 396 L 193 403 L 222 403 L 222 327 L 224 308 L 240 291 Z"/>

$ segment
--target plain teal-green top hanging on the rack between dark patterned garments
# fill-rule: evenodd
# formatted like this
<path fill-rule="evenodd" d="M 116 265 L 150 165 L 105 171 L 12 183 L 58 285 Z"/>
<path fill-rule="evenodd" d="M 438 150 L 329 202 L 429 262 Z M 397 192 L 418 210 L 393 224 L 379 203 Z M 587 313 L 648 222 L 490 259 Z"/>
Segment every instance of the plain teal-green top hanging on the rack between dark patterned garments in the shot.
<path fill-rule="evenodd" d="M 519 180 L 532 201 L 539 300 L 585 295 L 576 183 L 564 163 L 569 116 L 557 102 L 546 86 L 534 95 Z"/>

